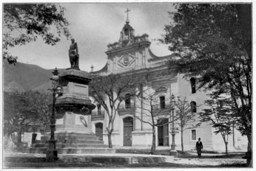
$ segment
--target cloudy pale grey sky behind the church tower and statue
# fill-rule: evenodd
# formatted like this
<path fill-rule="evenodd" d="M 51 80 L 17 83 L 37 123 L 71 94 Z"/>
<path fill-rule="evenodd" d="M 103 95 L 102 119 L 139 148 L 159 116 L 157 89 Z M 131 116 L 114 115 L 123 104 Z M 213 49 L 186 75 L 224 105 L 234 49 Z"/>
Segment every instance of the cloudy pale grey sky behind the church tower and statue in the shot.
<path fill-rule="evenodd" d="M 167 12 L 174 11 L 172 3 L 65 3 L 64 17 L 70 25 L 68 29 L 78 44 L 79 68 L 83 71 L 98 71 L 107 63 L 107 44 L 119 40 L 121 29 L 127 20 L 135 29 L 135 35 L 149 35 L 150 49 L 157 56 L 169 55 L 167 46 L 154 41 L 164 34 L 164 25 L 171 18 Z M 68 49 L 71 41 L 61 36 L 55 46 L 48 45 L 38 38 L 36 42 L 8 49 L 11 55 L 18 56 L 18 62 L 35 64 L 44 69 L 70 68 Z"/>

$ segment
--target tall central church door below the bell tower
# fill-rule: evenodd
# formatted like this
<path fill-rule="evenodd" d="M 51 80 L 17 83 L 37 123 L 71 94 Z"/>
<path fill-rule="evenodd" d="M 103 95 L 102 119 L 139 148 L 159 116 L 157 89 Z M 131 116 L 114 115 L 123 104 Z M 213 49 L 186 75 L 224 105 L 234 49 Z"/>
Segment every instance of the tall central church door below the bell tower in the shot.
<path fill-rule="evenodd" d="M 124 118 L 124 146 L 132 146 L 133 118 Z"/>

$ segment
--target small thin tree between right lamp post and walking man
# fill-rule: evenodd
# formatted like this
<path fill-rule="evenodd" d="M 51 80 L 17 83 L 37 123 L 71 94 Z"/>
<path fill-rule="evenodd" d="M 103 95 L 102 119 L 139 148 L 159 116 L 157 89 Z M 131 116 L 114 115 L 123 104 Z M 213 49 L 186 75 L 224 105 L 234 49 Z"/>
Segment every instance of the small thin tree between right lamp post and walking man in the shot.
<path fill-rule="evenodd" d="M 181 131 L 181 150 L 183 153 L 184 152 L 183 150 L 184 130 L 198 128 L 201 125 L 201 123 L 196 123 L 196 120 L 195 120 L 196 113 L 192 112 L 192 106 L 186 100 L 186 97 L 184 97 L 183 99 L 181 97 L 178 97 L 178 100 L 175 102 L 175 108 L 176 108 L 175 120 L 179 126 L 178 130 Z"/>

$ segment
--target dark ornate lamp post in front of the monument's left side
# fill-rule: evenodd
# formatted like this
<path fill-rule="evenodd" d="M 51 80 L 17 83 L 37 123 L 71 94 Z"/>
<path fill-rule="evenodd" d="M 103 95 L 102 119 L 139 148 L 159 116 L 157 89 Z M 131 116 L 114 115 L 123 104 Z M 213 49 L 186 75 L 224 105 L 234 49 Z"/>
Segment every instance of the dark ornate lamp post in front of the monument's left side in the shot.
<path fill-rule="evenodd" d="M 52 86 L 51 89 L 53 91 L 53 111 L 52 116 L 50 118 L 50 140 L 49 140 L 49 149 L 47 150 L 46 157 L 47 161 L 54 161 L 58 158 L 58 151 L 56 150 L 55 146 L 55 139 L 54 139 L 54 131 L 55 131 L 55 101 L 56 101 L 56 91 L 58 86 L 58 70 L 55 68 L 55 70 L 52 72 L 53 77 L 50 79 L 52 80 Z"/>

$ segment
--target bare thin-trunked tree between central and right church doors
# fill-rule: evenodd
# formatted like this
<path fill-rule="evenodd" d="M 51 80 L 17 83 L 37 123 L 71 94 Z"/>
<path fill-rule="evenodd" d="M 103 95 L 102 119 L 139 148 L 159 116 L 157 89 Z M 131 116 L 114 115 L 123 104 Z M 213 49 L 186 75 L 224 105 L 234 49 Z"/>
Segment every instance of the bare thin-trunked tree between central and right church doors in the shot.
<path fill-rule="evenodd" d="M 155 154 L 155 127 L 168 125 L 171 122 L 170 105 L 167 105 L 168 100 L 159 100 L 158 92 L 152 88 L 141 91 L 137 96 L 139 102 L 135 103 L 135 108 L 142 110 L 136 111 L 135 119 L 140 120 L 152 127 L 152 145 L 151 154 Z M 141 105 L 139 105 L 141 104 Z"/>

